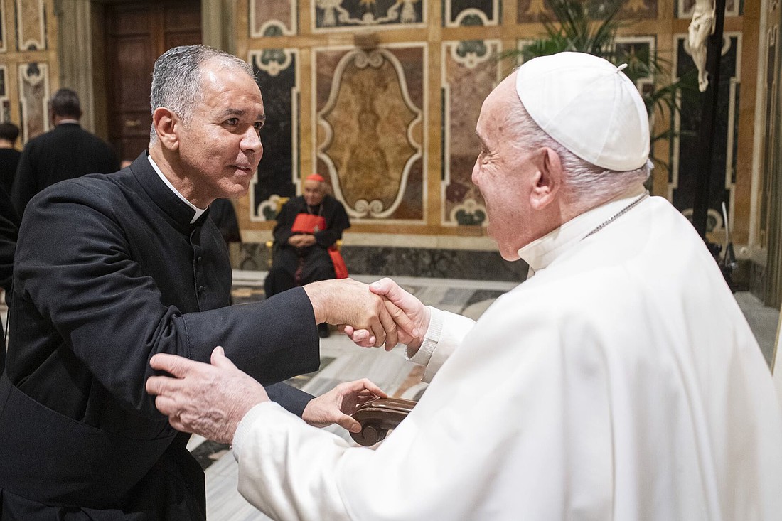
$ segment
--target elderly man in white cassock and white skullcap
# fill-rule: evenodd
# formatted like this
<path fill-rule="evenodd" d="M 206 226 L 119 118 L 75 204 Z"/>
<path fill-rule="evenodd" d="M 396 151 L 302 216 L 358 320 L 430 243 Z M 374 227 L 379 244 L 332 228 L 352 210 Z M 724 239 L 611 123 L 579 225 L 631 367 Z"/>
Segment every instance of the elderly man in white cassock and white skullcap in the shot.
<path fill-rule="evenodd" d="M 769 369 L 703 241 L 644 189 L 647 113 L 621 70 L 536 58 L 484 102 L 472 180 L 533 276 L 478 322 L 372 285 L 414 320 L 431 381 L 374 450 L 268 401 L 220 348 L 152 358 L 174 375 L 148 380 L 160 410 L 232 441 L 274 519 L 780 519 Z"/>

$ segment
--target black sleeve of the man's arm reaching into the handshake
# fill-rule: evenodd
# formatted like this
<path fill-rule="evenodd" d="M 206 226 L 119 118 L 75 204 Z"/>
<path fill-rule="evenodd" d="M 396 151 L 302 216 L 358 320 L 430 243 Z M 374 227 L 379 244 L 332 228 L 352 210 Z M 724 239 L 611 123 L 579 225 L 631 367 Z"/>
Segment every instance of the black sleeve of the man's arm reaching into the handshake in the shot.
<path fill-rule="evenodd" d="M 112 210 L 102 194 L 77 183 L 36 196 L 20 230 L 14 293 L 34 304 L 118 401 L 160 416 L 145 392 L 156 353 L 208 362 L 220 345 L 264 385 L 317 370 L 317 327 L 303 289 L 183 314 L 162 304 Z"/>

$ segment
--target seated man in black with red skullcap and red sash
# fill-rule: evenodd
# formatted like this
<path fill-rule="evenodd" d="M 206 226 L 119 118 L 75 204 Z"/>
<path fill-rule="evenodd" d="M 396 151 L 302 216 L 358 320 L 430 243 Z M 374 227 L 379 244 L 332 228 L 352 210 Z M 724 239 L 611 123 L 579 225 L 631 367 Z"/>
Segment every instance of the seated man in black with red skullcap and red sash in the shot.
<path fill-rule="evenodd" d="M 264 289 L 266 296 L 318 280 L 339 278 L 334 244 L 350 228 L 343 203 L 326 193 L 325 179 L 311 174 L 304 193 L 282 206 L 274 226 L 274 257 Z M 339 265 L 339 264 L 338 264 Z"/>

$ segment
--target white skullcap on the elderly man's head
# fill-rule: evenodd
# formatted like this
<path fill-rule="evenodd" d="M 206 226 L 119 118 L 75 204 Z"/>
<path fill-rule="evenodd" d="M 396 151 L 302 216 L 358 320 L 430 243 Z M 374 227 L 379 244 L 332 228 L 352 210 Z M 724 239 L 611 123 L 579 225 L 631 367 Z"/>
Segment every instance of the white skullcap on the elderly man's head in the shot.
<path fill-rule="evenodd" d="M 516 92 L 535 123 L 576 156 L 635 170 L 649 156 L 649 119 L 623 68 L 583 52 L 540 56 L 518 68 Z"/>

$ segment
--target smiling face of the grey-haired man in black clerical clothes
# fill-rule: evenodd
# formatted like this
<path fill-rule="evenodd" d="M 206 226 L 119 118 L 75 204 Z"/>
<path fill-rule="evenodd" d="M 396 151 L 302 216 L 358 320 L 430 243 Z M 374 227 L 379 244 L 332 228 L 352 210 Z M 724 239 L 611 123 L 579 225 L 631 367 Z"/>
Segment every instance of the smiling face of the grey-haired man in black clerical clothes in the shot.
<path fill-rule="evenodd" d="M 264 153 L 264 101 L 243 70 L 213 60 L 203 64 L 202 96 L 181 125 L 182 166 L 201 203 L 244 195 Z"/>

